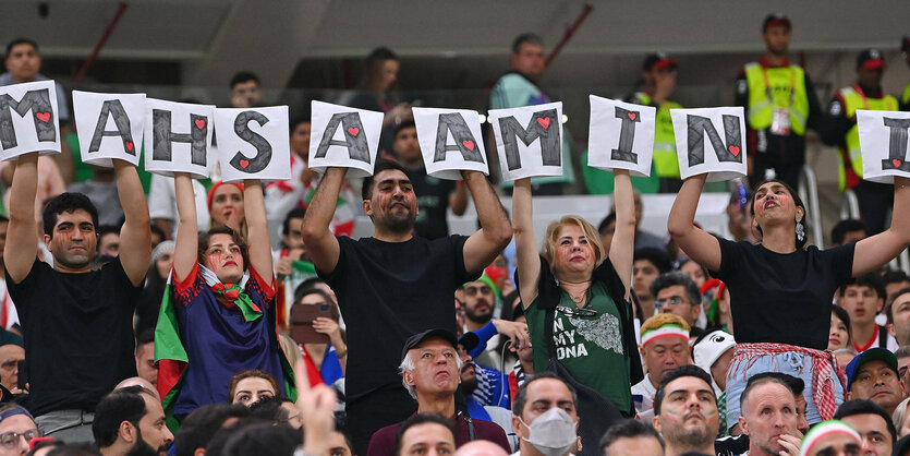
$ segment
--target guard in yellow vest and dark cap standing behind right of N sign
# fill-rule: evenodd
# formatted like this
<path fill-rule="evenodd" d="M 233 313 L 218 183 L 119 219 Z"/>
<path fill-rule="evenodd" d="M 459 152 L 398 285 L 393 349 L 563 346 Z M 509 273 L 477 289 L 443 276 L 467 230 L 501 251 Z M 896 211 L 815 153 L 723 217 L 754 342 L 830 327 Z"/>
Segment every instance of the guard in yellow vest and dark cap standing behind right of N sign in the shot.
<path fill-rule="evenodd" d="M 769 14 L 762 23 L 767 50 L 740 69 L 736 105 L 745 108 L 749 180 L 753 187 L 767 169 L 792 188 L 805 163 L 805 130 L 818 130 L 824 117 L 809 75 L 787 58 L 790 20 Z"/>

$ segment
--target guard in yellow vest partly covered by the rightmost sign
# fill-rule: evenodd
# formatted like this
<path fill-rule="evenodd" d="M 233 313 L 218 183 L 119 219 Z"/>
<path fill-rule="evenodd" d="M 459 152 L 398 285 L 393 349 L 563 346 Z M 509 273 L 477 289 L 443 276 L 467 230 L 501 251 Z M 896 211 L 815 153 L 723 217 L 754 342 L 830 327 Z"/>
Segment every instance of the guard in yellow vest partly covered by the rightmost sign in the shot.
<path fill-rule="evenodd" d="M 898 110 L 897 98 L 882 91 L 885 60 L 882 52 L 867 49 L 857 58 L 857 83 L 837 92 L 828 105 L 828 121 L 822 131 L 825 144 L 840 149 L 840 190 L 852 189 L 869 236 L 885 229 L 885 216 L 894 201 L 891 185 L 863 180 L 857 109 Z"/>

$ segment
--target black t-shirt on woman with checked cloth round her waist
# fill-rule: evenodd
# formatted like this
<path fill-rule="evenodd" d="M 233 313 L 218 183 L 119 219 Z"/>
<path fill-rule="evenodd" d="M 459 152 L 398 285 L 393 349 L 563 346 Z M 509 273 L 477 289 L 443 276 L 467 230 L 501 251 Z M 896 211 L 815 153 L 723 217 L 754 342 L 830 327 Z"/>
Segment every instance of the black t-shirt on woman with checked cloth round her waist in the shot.
<path fill-rule="evenodd" d="M 854 247 L 780 254 L 720 240 L 720 271 L 712 274 L 730 290 L 737 341 L 826 349 L 832 299 L 852 275 Z"/>

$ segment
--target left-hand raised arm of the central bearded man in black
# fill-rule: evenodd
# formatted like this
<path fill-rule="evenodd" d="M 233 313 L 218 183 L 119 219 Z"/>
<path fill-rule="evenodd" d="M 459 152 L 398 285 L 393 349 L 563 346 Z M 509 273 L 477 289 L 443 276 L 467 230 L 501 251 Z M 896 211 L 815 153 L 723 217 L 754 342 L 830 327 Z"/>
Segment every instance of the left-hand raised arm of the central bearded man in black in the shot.
<path fill-rule="evenodd" d="M 303 244 L 306 245 L 306 253 L 313 260 L 319 271 L 329 274 L 338 265 L 340 248 L 338 239 L 329 230 L 331 217 L 335 215 L 335 206 L 338 204 L 338 194 L 341 193 L 341 184 L 344 183 L 347 168 L 329 168 L 313 195 L 313 201 L 306 208 L 303 217 Z"/>

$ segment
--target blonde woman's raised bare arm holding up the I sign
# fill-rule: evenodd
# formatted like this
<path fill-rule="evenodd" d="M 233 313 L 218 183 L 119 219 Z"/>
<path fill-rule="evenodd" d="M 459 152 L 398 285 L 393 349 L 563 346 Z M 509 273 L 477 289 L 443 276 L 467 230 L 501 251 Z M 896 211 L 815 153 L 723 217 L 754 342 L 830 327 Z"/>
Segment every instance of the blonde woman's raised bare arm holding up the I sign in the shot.
<path fill-rule="evenodd" d="M 610 243 L 609 256 L 628 297 L 632 285 L 632 259 L 635 254 L 635 197 L 629 171 L 615 169 L 612 173 L 616 232 Z"/>

